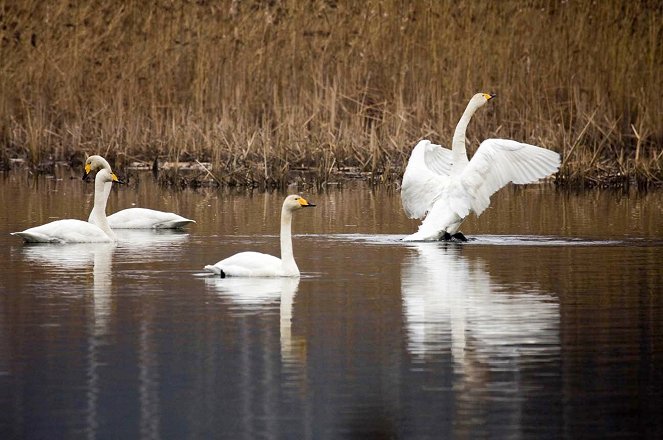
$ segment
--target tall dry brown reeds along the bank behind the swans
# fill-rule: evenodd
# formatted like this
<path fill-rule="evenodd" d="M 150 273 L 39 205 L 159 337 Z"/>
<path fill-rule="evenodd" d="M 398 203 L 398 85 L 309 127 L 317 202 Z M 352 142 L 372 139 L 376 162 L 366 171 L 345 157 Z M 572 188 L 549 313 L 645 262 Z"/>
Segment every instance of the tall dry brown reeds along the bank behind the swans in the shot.
<path fill-rule="evenodd" d="M 655 0 L 5 2 L 0 170 L 393 183 L 484 91 L 470 154 L 510 138 L 559 152 L 560 186 L 660 186 L 661 41 Z"/>

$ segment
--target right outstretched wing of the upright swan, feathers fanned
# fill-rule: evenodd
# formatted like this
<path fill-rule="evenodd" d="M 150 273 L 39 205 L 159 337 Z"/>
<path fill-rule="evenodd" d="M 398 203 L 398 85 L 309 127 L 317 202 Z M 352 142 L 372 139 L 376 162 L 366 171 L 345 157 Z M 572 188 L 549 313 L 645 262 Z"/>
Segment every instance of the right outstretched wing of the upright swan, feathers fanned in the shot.
<path fill-rule="evenodd" d="M 509 182 L 533 183 L 559 169 L 559 154 L 509 139 L 486 139 L 461 173 L 462 187 L 471 196 L 471 208 L 481 214 L 490 196 Z"/>

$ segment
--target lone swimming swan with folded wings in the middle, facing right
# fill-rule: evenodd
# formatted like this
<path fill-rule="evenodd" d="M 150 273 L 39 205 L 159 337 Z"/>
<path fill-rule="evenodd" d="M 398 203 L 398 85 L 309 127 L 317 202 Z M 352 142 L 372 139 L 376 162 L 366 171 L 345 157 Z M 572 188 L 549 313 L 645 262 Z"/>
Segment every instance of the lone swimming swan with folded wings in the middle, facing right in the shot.
<path fill-rule="evenodd" d="M 205 270 L 225 277 L 298 277 L 299 268 L 292 254 L 291 224 L 293 212 L 315 206 L 303 197 L 290 195 L 281 208 L 281 258 L 260 252 L 240 252 Z"/>

